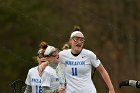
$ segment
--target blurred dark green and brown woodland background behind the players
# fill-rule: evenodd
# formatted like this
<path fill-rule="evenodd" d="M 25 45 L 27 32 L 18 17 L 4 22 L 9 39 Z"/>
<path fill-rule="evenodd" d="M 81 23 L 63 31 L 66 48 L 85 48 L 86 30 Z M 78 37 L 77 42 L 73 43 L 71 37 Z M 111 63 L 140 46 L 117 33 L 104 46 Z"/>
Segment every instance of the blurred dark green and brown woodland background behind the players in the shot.
<path fill-rule="evenodd" d="M 116 93 L 140 93 L 119 88 L 121 80 L 140 80 L 139 0 L 0 0 L 0 92 L 13 93 L 9 83 L 26 79 L 36 66 L 39 43 L 59 49 L 79 25 L 92 50 L 108 71 Z M 108 93 L 101 75 L 94 83 Z"/>

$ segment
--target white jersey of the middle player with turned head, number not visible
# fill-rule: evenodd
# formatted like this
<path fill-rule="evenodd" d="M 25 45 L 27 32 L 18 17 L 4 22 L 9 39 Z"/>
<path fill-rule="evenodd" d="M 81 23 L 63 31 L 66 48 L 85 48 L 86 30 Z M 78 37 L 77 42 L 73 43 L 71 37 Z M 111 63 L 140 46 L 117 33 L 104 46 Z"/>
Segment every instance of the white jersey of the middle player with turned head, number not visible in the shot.
<path fill-rule="evenodd" d="M 56 90 L 59 87 L 59 79 L 56 74 L 56 69 L 51 66 L 47 66 L 42 75 L 42 86 L 47 86 L 52 90 Z"/>

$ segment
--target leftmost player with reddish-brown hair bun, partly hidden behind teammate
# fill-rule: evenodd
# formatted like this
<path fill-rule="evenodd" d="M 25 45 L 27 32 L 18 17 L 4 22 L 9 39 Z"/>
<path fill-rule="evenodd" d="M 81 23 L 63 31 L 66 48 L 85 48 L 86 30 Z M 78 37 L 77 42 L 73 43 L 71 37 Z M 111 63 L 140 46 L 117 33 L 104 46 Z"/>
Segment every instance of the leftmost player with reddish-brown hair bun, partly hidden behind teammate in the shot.
<path fill-rule="evenodd" d="M 38 51 L 38 56 L 36 57 L 39 65 L 46 61 L 46 59 L 43 57 L 43 54 L 44 50 L 47 48 L 47 43 L 41 42 L 40 48 L 41 49 Z M 42 80 L 39 74 L 39 66 L 33 67 L 28 71 L 25 84 L 27 86 L 24 93 L 42 93 Z"/>

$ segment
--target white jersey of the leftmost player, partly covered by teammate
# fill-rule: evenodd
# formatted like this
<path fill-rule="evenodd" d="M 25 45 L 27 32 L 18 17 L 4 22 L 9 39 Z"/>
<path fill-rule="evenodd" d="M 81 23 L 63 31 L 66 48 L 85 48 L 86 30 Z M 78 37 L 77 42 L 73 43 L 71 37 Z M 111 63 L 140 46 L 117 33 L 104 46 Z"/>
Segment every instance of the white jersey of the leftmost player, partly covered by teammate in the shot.
<path fill-rule="evenodd" d="M 25 81 L 26 85 L 32 87 L 32 93 L 42 93 L 42 80 L 37 69 L 38 67 L 31 68 Z"/>

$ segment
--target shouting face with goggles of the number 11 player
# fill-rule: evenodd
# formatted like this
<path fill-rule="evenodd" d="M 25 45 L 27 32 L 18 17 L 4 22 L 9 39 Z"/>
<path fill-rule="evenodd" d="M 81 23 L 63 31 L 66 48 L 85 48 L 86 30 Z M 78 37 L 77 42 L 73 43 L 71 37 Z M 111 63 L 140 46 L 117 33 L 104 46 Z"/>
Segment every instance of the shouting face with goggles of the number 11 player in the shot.
<path fill-rule="evenodd" d="M 79 53 L 82 50 L 82 48 L 83 48 L 84 42 L 85 42 L 85 38 L 81 37 L 80 34 L 74 36 L 71 39 L 72 51 L 74 51 L 75 53 Z"/>

